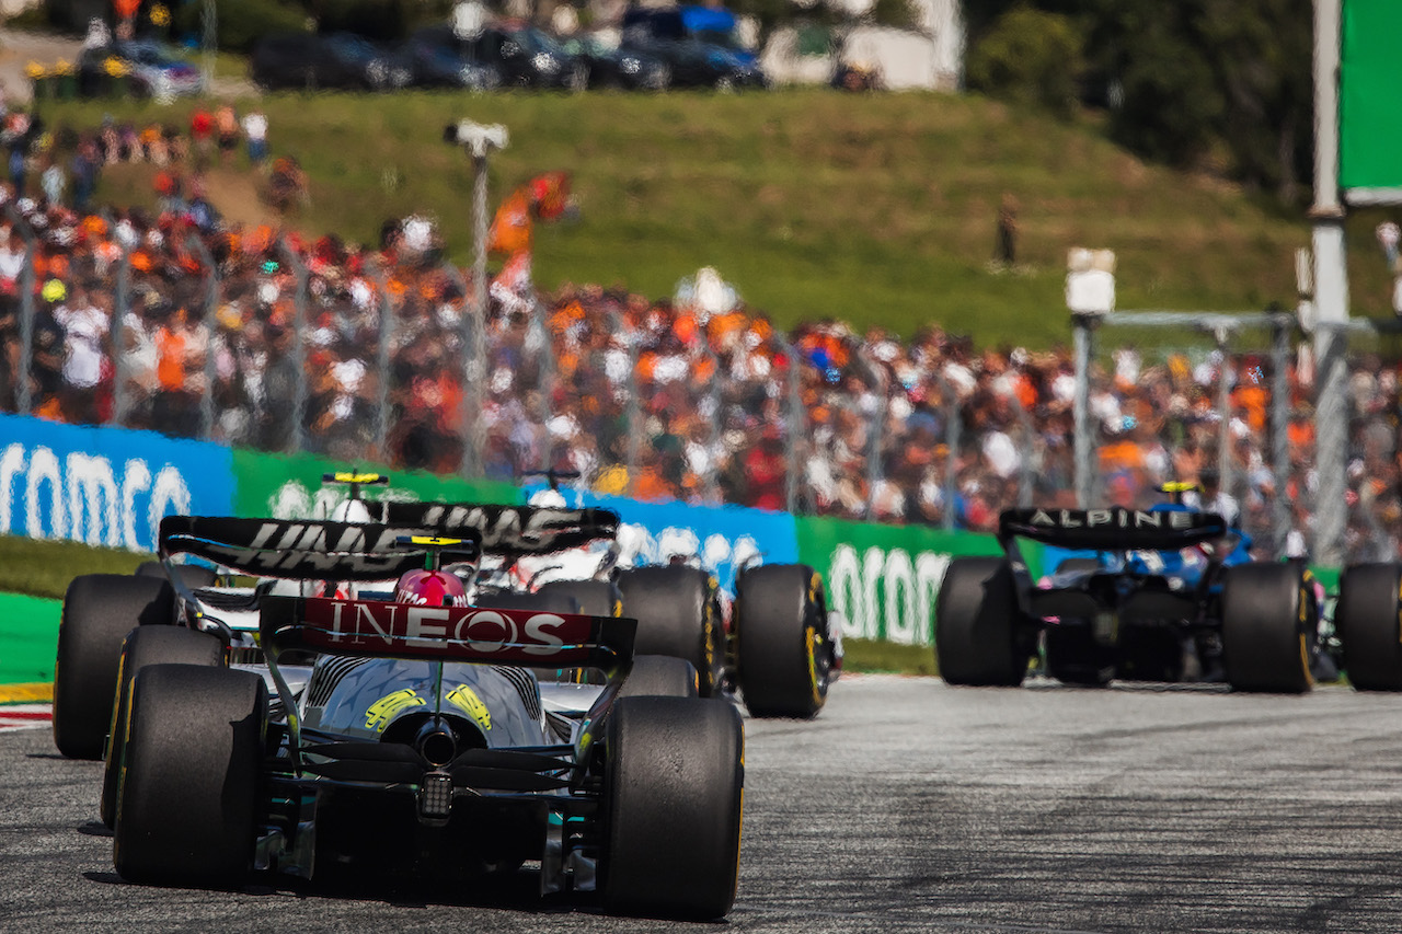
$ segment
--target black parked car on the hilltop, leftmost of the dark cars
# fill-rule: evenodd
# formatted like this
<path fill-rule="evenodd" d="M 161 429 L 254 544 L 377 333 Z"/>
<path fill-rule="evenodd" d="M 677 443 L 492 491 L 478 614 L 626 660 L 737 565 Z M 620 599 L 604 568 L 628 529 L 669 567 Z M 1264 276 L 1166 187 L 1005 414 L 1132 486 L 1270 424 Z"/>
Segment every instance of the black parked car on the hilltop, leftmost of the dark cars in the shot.
<path fill-rule="evenodd" d="M 414 79 L 408 57 L 353 32 L 286 32 L 259 39 L 250 77 L 264 88 L 390 91 Z"/>

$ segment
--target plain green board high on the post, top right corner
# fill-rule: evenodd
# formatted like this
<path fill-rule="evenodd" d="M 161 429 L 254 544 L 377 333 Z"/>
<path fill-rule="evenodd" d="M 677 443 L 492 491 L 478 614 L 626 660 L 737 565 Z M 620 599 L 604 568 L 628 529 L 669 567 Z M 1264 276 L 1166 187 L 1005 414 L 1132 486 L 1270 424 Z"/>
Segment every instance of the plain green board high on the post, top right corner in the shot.
<path fill-rule="evenodd" d="M 1402 3 L 1345 0 L 1339 187 L 1349 201 L 1402 202 Z"/>

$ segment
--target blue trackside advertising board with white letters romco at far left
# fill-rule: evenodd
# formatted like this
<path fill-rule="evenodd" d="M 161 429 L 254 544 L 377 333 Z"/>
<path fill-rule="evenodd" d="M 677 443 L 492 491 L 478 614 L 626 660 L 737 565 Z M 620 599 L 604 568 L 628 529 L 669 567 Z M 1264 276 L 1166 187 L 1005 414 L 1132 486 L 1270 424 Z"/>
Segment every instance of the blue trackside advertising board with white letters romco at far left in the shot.
<path fill-rule="evenodd" d="M 0 533 L 154 551 L 163 516 L 233 503 L 227 447 L 0 415 Z"/>

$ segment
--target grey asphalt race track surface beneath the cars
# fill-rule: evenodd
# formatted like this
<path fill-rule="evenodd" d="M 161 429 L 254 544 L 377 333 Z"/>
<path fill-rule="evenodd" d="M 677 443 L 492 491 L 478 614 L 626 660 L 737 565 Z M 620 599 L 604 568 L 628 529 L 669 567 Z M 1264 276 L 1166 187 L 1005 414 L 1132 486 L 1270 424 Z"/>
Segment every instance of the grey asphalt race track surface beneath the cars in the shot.
<path fill-rule="evenodd" d="M 101 767 L 0 733 L 0 930 L 1399 931 L 1402 696 L 850 677 L 746 721 L 728 921 L 492 892 L 118 878 Z M 666 827 L 659 827 L 665 833 Z"/>

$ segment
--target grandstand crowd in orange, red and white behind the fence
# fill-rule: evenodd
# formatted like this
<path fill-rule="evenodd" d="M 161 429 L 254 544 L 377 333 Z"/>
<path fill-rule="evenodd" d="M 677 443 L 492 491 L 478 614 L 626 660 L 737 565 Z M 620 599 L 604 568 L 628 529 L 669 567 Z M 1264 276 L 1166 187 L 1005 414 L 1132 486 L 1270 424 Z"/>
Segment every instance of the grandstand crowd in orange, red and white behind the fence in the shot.
<path fill-rule="evenodd" d="M 105 158 L 104 135 L 142 139 L 102 128 L 79 135 L 76 151 Z M 171 187 L 157 212 L 97 209 L 13 181 L 3 202 L 6 411 L 27 379 L 43 418 L 200 436 L 210 391 L 215 440 L 343 461 L 454 473 L 475 429 L 489 477 L 548 463 L 600 492 L 649 501 L 784 509 L 792 489 L 805 515 L 972 530 L 994 529 L 1019 502 L 1075 503 L 1075 372 L 1064 349 L 974 348 L 937 323 L 910 339 L 831 320 L 785 335 L 743 303 L 495 282 L 485 376 L 464 400 L 472 275 L 443 261 L 421 219 L 387 223 L 380 243 L 362 245 L 224 223 L 198 185 Z M 125 352 L 121 387 L 114 346 Z M 1225 435 L 1244 527 L 1273 543 L 1284 498 L 1288 550 L 1307 554 L 1318 505 L 1307 349 L 1288 362 L 1283 477 L 1272 470 L 1269 355 L 1122 346 L 1106 359 L 1089 388 L 1098 501 L 1161 499 L 1158 484 L 1214 467 Z M 1346 550 L 1398 557 L 1402 367 L 1353 363 Z"/>

